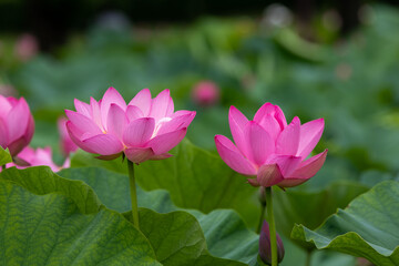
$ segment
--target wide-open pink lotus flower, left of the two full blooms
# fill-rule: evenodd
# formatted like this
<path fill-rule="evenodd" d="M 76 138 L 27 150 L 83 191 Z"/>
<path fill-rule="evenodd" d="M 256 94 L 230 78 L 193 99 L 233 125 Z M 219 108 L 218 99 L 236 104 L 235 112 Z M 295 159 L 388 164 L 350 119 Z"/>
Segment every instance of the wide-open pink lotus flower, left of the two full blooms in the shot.
<path fill-rule="evenodd" d="M 76 112 L 65 110 L 66 129 L 82 150 L 112 160 L 124 153 L 133 163 L 170 157 L 167 152 L 186 134 L 195 112 L 174 112 L 168 90 L 151 99 L 149 89 L 139 92 L 126 105 L 110 88 L 102 100 L 90 104 L 74 102 Z"/>

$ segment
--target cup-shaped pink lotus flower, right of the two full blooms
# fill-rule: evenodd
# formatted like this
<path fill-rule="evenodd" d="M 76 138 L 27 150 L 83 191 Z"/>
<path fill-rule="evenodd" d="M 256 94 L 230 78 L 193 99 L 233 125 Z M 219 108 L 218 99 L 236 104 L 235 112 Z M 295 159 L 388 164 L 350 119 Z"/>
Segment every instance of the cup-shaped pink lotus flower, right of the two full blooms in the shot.
<path fill-rule="evenodd" d="M 235 144 L 216 135 L 216 149 L 231 168 L 256 176 L 248 178 L 253 186 L 299 185 L 313 177 L 326 160 L 327 150 L 307 158 L 321 137 L 323 119 L 301 125 L 296 116 L 287 125 L 280 108 L 265 103 L 252 121 L 232 106 L 228 122 Z"/>

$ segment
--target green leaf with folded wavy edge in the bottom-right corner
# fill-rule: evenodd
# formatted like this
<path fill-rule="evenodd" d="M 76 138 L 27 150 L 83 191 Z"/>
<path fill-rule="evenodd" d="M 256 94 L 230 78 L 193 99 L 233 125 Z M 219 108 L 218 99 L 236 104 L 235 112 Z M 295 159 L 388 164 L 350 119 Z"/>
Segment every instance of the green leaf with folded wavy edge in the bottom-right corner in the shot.
<path fill-rule="evenodd" d="M 365 257 L 380 266 L 399 265 L 399 183 L 387 181 L 338 209 L 311 231 L 295 225 L 291 237 Z"/>

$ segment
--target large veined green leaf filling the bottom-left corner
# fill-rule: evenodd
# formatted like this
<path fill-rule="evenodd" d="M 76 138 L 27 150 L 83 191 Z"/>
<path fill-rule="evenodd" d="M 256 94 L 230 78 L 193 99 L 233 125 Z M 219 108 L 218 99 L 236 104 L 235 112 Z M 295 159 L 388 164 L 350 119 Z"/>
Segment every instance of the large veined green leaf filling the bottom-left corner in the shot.
<path fill-rule="evenodd" d="M 1 265 L 161 265 L 122 215 L 82 214 L 61 194 L 35 195 L 0 181 Z"/>

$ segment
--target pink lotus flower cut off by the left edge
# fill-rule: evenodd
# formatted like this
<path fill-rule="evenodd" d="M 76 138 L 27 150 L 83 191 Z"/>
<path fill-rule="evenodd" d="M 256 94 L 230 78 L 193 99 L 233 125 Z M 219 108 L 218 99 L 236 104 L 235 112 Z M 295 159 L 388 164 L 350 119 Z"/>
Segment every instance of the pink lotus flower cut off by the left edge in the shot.
<path fill-rule="evenodd" d="M 27 101 L 0 95 L 0 145 L 16 156 L 32 140 L 34 122 Z"/>

